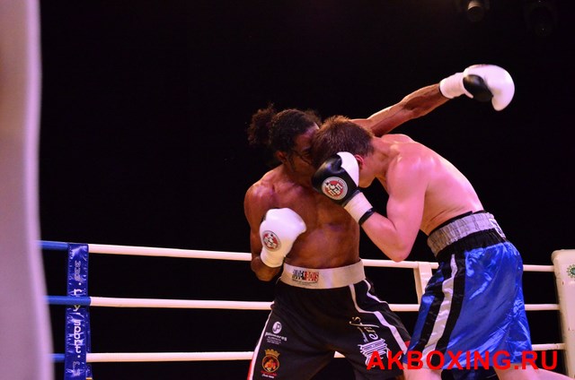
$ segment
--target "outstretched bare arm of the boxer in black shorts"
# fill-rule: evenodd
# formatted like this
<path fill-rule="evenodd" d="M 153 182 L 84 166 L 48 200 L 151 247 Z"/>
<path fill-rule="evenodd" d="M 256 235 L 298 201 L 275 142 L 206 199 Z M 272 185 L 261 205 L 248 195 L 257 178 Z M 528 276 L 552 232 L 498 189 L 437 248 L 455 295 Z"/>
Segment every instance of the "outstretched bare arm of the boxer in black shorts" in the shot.
<path fill-rule="evenodd" d="M 376 136 L 391 132 L 411 119 L 422 117 L 446 103 L 448 98 L 439 91 L 439 83 L 430 84 L 405 96 L 399 103 L 384 108 L 370 117 L 352 119 L 354 123 L 371 129 Z"/>

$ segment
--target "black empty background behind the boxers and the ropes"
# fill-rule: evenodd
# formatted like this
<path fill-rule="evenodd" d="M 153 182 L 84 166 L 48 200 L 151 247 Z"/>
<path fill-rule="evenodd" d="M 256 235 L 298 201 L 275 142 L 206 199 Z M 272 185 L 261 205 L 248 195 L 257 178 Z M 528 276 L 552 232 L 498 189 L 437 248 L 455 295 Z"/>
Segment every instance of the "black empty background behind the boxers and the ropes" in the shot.
<path fill-rule="evenodd" d="M 248 252 L 245 190 L 267 170 L 252 113 L 314 108 L 367 117 L 468 65 L 506 68 L 508 108 L 464 96 L 396 130 L 461 168 L 525 263 L 573 241 L 571 1 L 538 36 L 528 2 L 491 0 L 471 22 L 455 0 L 41 0 L 40 228 L 45 240 Z M 555 12 L 556 11 L 556 12 Z M 367 196 L 385 212 L 385 196 Z M 384 258 L 362 241 L 365 258 Z M 420 237 L 410 260 L 432 260 Z M 49 294 L 66 255 L 44 253 Z M 382 298 L 414 303 L 410 272 L 372 271 Z M 247 262 L 91 255 L 90 295 L 264 300 Z M 526 302 L 556 302 L 526 273 Z M 63 351 L 63 307 L 50 307 Z M 264 311 L 92 307 L 93 352 L 249 351 Z M 413 313 L 404 313 L 411 327 Z M 561 341 L 556 312 L 528 313 L 534 343 Z M 94 363 L 95 379 L 242 379 L 247 361 Z M 561 359 L 559 363 L 561 370 Z M 63 378 L 56 366 L 57 378 Z M 352 378 L 337 359 L 317 378 Z"/>

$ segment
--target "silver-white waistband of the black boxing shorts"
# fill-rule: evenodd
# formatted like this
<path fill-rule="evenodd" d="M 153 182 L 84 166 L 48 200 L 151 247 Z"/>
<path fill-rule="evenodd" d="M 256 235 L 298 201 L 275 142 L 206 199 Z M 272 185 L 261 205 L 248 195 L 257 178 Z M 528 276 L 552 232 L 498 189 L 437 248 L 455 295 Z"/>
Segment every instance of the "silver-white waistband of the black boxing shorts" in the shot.
<path fill-rule="evenodd" d="M 284 263 L 279 280 L 291 286 L 307 289 L 341 288 L 365 280 L 363 262 L 339 268 L 310 269 Z"/>

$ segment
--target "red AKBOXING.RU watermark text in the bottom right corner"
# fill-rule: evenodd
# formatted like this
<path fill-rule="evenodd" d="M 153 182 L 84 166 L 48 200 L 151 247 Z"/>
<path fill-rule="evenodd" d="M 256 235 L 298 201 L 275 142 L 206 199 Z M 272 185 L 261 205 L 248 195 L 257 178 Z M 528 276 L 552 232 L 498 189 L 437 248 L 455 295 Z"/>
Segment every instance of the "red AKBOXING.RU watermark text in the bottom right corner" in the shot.
<path fill-rule="evenodd" d="M 423 358 L 420 351 L 408 351 L 405 354 L 405 363 L 403 363 L 403 352 L 399 351 L 395 354 L 391 350 L 387 350 L 384 358 L 386 362 L 379 355 L 378 351 L 371 354 L 371 358 L 367 362 L 367 369 L 420 369 L 427 367 L 429 369 L 488 369 L 494 367 L 495 369 L 526 369 L 527 367 L 539 368 L 535 364 L 537 358 L 541 359 L 541 368 L 553 370 L 557 367 L 557 351 L 541 351 L 538 357 L 537 351 L 524 351 L 521 355 L 519 363 L 511 363 L 511 355 L 507 351 L 487 351 L 485 353 L 477 351 L 447 351 L 446 353 L 440 351 L 430 351 L 429 354 Z M 551 358 L 549 358 L 551 356 Z M 551 364 L 548 363 L 551 361 Z"/>

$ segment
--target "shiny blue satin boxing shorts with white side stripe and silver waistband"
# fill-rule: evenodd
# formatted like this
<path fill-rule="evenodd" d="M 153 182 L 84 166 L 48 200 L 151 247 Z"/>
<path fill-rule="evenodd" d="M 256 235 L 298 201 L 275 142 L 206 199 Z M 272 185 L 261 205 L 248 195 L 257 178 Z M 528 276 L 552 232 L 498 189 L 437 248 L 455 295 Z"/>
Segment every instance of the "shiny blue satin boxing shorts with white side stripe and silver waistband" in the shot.
<path fill-rule="evenodd" d="M 521 363 L 532 346 L 516 247 L 486 212 L 455 220 L 438 236 L 431 233 L 428 242 L 438 270 L 421 298 L 403 362 L 420 358 L 431 368 Z"/>

